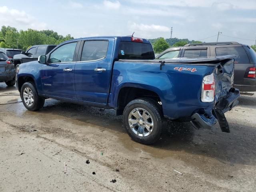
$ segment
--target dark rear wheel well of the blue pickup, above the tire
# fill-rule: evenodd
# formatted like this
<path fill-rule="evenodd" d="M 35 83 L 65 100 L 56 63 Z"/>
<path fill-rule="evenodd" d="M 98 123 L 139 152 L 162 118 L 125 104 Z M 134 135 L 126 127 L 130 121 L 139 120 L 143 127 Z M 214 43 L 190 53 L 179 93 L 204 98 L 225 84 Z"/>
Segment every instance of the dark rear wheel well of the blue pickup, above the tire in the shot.
<path fill-rule="evenodd" d="M 118 101 L 117 101 L 117 109 L 116 115 L 122 115 L 124 112 L 125 106 L 132 100 L 136 98 L 151 98 L 158 102 L 162 110 L 162 103 L 158 94 L 153 91 L 141 88 L 133 88 L 133 87 L 124 87 L 120 90 L 118 94 Z"/>

